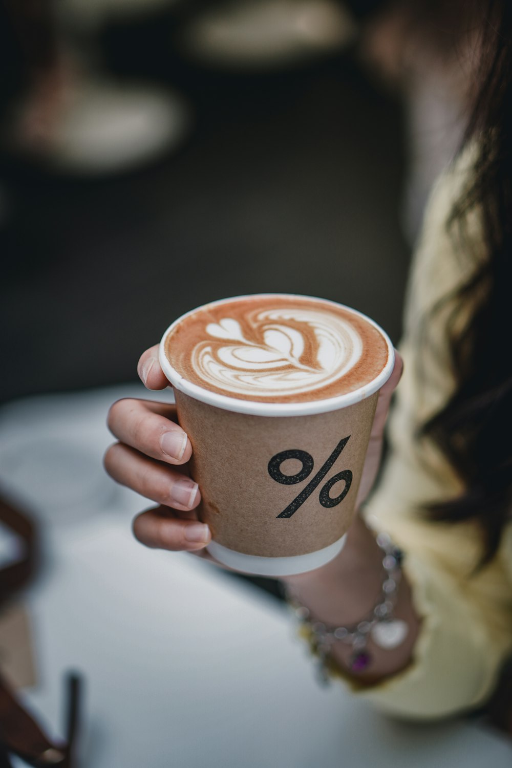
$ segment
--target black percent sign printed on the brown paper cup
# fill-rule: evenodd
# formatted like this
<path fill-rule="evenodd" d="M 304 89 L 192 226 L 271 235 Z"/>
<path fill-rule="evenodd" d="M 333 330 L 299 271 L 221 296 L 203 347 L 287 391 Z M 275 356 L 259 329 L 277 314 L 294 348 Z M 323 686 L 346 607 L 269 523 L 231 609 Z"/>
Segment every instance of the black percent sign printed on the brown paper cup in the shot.
<path fill-rule="evenodd" d="M 342 450 L 345 448 L 345 445 L 348 443 L 349 439 L 350 435 L 339 441 L 338 445 L 336 445 L 334 451 L 329 456 L 325 464 L 322 465 L 312 480 L 309 481 L 308 485 L 306 485 L 306 488 L 304 488 L 299 493 L 299 495 L 289 503 L 286 509 L 282 510 L 280 515 L 277 515 L 278 518 L 291 518 L 292 515 L 295 515 L 299 507 L 301 507 L 302 504 L 304 504 L 306 501 L 306 498 L 309 498 L 315 488 L 318 488 L 323 478 L 325 478 L 325 475 L 327 475 L 327 472 L 329 472 L 329 469 L 332 467 Z M 286 462 L 286 460 L 289 458 L 298 458 L 299 462 L 302 462 L 302 469 L 297 472 L 296 475 L 284 475 L 283 472 L 281 472 L 282 462 Z M 310 453 L 307 453 L 306 451 L 299 451 L 297 449 L 290 449 L 289 451 L 281 451 L 280 453 L 276 453 L 276 455 L 273 456 L 269 461 L 268 470 L 270 477 L 273 478 L 273 480 L 276 482 L 279 482 L 282 485 L 296 485 L 296 483 L 302 482 L 302 480 L 306 480 L 306 478 L 311 475 L 313 466 L 313 457 Z M 345 488 L 343 488 L 342 492 L 338 496 L 331 498 L 329 492 L 332 486 L 340 480 L 345 481 Z M 319 501 L 322 507 L 335 507 L 337 504 L 342 502 L 345 496 L 348 494 L 348 489 L 350 488 L 351 484 L 352 472 L 350 469 L 344 469 L 342 472 L 338 472 L 337 475 L 334 475 L 334 477 L 325 483 L 320 491 Z"/>

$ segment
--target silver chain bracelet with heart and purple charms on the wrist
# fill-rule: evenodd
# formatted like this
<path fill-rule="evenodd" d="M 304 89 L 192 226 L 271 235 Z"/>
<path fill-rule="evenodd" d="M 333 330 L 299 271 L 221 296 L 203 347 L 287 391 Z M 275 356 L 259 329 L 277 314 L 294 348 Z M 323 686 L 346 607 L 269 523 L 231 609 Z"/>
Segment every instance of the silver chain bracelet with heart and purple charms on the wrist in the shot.
<path fill-rule="evenodd" d="M 352 672 L 358 673 L 363 672 L 372 664 L 372 654 L 367 647 L 370 638 L 378 647 L 391 650 L 401 645 L 408 635 L 408 624 L 395 618 L 403 554 L 392 543 L 387 533 L 379 533 L 376 541 L 384 553 L 381 594 L 379 594 L 378 602 L 372 610 L 357 624 L 334 627 L 324 624 L 323 621 L 316 621 L 309 608 L 301 605 L 293 596 L 286 595 L 299 623 L 307 625 L 312 633 L 312 650 L 319 661 L 319 680 L 323 684 L 329 682 L 326 661 L 331 653 L 332 645 L 336 642 L 352 646 L 352 656 L 348 665 Z"/>

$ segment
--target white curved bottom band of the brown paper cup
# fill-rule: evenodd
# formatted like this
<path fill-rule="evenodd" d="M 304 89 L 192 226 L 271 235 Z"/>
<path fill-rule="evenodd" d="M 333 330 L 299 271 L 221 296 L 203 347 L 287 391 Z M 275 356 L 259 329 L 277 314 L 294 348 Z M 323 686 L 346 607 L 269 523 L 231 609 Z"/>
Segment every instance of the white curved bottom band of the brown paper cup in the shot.
<path fill-rule="evenodd" d="M 255 574 L 258 576 L 292 576 L 306 571 L 314 571 L 328 563 L 342 551 L 347 535 L 342 535 L 338 541 L 329 547 L 308 554 L 296 554 L 289 558 L 263 558 L 256 554 L 243 554 L 234 549 L 228 549 L 216 541 L 210 541 L 206 547 L 211 556 L 229 568 L 236 571 Z"/>

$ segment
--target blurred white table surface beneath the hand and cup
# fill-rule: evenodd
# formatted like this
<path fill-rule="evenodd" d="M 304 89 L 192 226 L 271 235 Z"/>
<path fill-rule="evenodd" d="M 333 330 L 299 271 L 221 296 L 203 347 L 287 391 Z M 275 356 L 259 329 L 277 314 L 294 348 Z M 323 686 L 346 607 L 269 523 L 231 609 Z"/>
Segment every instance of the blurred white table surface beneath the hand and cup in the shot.
<path fill-rule="evenodd" d="M 0 484 L 45 521 L 28 593 L 40 683 L 24 696 L 58 733 L 64 672 L 84 674 L 81 768 L 510 768 L 510 742 L 481 724 L 398 723 L 320 688 L 273 598 L 139 545 L 130 520 L 147 502 L 101 468 L 107 408 L 128 395 L 147 392 L 0 411 Z"/>

